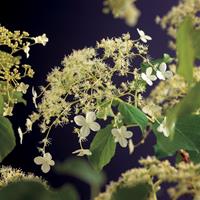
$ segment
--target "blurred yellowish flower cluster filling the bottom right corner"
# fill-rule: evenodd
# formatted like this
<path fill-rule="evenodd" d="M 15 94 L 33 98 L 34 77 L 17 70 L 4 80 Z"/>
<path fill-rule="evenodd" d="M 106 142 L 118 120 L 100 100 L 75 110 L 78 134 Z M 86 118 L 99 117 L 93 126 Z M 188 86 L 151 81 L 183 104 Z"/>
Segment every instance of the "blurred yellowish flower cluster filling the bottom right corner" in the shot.
<path fill-rule="evenodd" d="M 101 193 L 95 200 L 113 199 L 120 188 L 134 188 L 137 185 L 148 184 L 148 199 L 156 199 L 156 193 L 161 189 L 162 183 L 176 183 L 169 186 L 167 192 L 171 199 L 177 200 L 185 194 L 190 194 L 194 199 L 198 199 L 200 165 L 180 162 L 175 167 L 169 161 L 159 161 L 154 157 L 141 159 L 143 168 L 131 169 L 124 174 L 117 182 L 112 182 L 107 186 L 106 191 Z"/>

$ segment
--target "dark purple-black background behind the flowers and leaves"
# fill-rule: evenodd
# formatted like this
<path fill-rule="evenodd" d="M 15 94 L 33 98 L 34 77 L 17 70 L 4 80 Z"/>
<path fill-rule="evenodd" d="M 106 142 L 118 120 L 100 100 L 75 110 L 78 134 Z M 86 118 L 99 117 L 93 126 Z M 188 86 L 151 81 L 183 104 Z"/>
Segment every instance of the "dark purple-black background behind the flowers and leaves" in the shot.
<path fill-rule="evenodd" d="M 102 14 L 102 0 L 6 0 L 0 6 L 0 23 L 10 30 L 26 30 L 32 36 L 46 33 L 49 43 L 43 47 L 37 45 L 31 49 L 30 58 L 26 61 L 36 71 L 33 80 L 29 83 L 35 87 L 45 84 L 46 74 L 54 66 L 59 66 L 64 55 L 73 49 L 94 46 L 96 41 L 106 37 L 121 36 L 130 32 L 132 38 L 138 37 L 136 28 L 144 30 L 152 36 L 150 42 L 150 55 L 158 58 L 163 53 L 169 53 L 168 37 L 154 22 L 156 15 L 164 15 L 175 0 L 138 0 L 137 7 L 141 10 L 141 17 L 136 27 L 128 27 L 123 20 L 113 19 L 112 15 Z M 29 91 L 26 98 L 30 99 Z M 14 129 L 25 123 L 28 114 L 33 110 L 32 103 L 27 107 L 17 105 L 15 117 L 11 118 Z M 16 117 L 17 116 L 17 117 Z M 52 130 L 52 146 L 49 151 L 56 162 L 64 161 L 71 156 L 71 152 L 78 148 L 77 138 L 72 134 L 72 127 L 66 126 Z M 136 140 L 139 135 L 136 133 Z M 5 165 L 21 168 L 36 175 L 42 175 L 53 187 L 64 183 L 73 183 L 78 188 L 82 199 L 89 199 L 89 187 L 75 178 L 58 176 L 53 170 L 47 175 L 42 174 L 40 167 L 33 163 L 38 156 L 36 145 L 41 139 L 41 133 L 34 126 L 33 132 L 27 135 L 23 145 L 16 149 L 5 159 Z M 105 167 L 107 180 L 117 180 L 119 175 L 132 167 L 138 166 L 138 159 L 153 154 L 152 145 L 155 138 L 150 135 L 144 145 L 136 149 L 133 155 L 128 150 L 117 149 L 116 156 L 109 166 Z"/>

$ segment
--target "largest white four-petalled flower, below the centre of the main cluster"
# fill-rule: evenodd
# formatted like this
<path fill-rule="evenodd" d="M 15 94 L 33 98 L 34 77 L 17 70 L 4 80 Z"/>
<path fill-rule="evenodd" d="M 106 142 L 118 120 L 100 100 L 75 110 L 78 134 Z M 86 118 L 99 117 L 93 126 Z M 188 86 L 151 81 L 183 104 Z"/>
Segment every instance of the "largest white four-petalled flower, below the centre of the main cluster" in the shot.
<path fill-rule="evenodd" d="M 85 139 L 90 134 L 90 129 L 92 131 L 99 131 L 100 125 L 95 122 L 96 115 L 94 112 L 86 113 L 86 117 L 78 115 L 74 117 L 74 121 L 78 126 L 81 126 L 80 129 L 80 139 Z"/>

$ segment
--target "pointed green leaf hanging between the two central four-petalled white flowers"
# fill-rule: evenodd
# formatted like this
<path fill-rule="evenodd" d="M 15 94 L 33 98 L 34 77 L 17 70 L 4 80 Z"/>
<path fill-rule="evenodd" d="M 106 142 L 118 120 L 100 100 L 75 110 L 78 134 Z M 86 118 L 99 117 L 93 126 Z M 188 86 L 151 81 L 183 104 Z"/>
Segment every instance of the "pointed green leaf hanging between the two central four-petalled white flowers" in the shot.
<path fill-rule="evenodd" d="M 115 154 L 116 143 L 111 133 L 112 126 L 108 125 L 95 135 L 90 151 L 92 155 L 88 157 L 95 170 L 100 171 L 107 165 Z"/>

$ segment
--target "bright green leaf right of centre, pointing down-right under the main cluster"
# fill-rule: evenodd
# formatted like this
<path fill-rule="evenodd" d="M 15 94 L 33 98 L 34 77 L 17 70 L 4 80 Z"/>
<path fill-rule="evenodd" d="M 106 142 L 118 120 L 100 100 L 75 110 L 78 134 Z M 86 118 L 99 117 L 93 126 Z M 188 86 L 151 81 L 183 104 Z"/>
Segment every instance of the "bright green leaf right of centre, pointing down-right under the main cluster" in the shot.
<path fill-rule="evenodd" d="M 120 102 L 118 110 L 123 117 L 124 124 L 126 125 L 137 124 L 138 126 L 140 126 L 142 131 L 145 130 L 148 124 L 148 119 L 141 110 L 126 102 Z"/>

